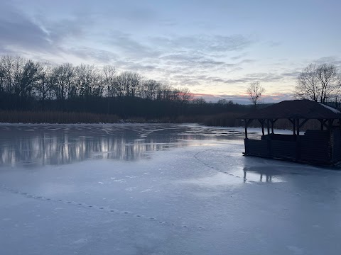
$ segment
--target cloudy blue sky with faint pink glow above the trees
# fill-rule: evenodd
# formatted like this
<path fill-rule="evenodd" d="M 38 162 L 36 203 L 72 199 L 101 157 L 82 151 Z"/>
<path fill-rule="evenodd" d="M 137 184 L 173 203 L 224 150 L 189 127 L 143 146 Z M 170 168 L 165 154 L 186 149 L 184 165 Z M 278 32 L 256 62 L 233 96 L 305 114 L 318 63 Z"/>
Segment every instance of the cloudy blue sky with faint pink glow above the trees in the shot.
<path fill-rule="evenodd" d="M 1 0 L 0 55 L 112 64 L 207 101 L 291 99 L 310 63 L 341 67 L 339 0 Z"/>

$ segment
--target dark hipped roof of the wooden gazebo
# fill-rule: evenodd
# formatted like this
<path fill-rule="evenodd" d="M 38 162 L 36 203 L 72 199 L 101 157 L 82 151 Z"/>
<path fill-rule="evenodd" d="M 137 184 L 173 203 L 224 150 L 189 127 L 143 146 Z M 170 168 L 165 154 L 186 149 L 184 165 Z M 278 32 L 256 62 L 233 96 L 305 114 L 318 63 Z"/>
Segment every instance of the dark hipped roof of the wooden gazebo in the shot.
<path fill-rule="evenodd" d="M 309 100 L 293 100 L 275 103 L 263 109 L 248 113 L 243 119 L 341 119 L 340 111 L 322 103 Z"/>

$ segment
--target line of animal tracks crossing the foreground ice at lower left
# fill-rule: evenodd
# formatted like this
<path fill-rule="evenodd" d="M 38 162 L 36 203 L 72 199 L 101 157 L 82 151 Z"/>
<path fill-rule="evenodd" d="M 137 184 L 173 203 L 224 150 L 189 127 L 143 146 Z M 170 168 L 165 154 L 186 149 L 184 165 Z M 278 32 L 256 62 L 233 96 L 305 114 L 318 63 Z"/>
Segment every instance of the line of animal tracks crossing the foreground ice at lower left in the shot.
<path fill-rule="evenodd" d="M 205 227 L 202 227 L 202 226 L 188 227 L 188 225 L 182 225 L 180 223 L 177 224 L 174 222 L 161 221 L 160 219 L 157 219 L 156 217 L 150 217 L 150 216 L 141 215 L 141 214 L 129 212 L 129 211 L 117 210 L 117 209 L 110 208 L 107 206 L 90 205 L 87 203 L 82 203 L 82 202 L 77 202 L 77 201 L 70 201 L 70 200 L 58 199 L 58 198 L 48 198 L 48 197 L 44 197 L 44 196 L 36 196 L 32 193 L 21 192 L 17 189 L 9 188 L 3 184 L 0 184 L 0 188 L 4 189 L 5 191 L 8 191 L 9 193 L 21 195 L 21 196 L 24 196 L 26 198 L 41 200 L 41 201 L 45 201 L 45 202 L 63 203 L 64 205 L 70 205 L 70 206 L 73 205 L 73 206 L 77 206 L 79 208 L 86 208 L 88 210 L 99 210 L 102 212 L 108 212 L 109 214 L 128 215 L 131 217 L 148 220 L 150 222 L 157 222 L 160 225 L 168 225 L 169 227 L 181 227 L 183 229 L 200 229 L 200 230 L 205 229 Z"/>

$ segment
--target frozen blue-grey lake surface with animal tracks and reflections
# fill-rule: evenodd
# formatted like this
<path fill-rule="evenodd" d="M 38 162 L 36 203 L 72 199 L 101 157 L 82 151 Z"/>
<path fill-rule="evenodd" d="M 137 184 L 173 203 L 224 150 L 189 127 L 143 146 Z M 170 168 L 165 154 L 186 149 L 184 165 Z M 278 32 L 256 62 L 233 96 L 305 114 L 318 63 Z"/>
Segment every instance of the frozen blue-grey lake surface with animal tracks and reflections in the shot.
<path fill-rule="evenodd" d="M 341 171 L 243 131 L 0 124 L 0 254 L 340 254 Z"/>

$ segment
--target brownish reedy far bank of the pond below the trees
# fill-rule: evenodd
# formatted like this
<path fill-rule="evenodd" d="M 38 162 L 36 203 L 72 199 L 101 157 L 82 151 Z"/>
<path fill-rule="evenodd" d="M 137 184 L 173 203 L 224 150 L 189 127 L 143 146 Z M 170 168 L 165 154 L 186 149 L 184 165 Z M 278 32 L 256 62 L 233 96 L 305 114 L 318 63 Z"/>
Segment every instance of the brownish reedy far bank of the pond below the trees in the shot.
<path fill-rule="evenodd" d="M 244 120 L 239 119 L 245 113 L 219 113 L 214 115 L 178 115 L 163 118 L 129 117 L 119 115 L 84 112 L 62 111 L 0 111 L 0 123 L 199 123 L 215 127 L 242 127 Z M 302 130 L 316 129 L 320 123 L 309 120 Z M 251 127 L 259 128 L 261 125 L 256 120 Z M 292 124 L 288 120 L 278 120 L 276 129 L 291 130 Z"/>

